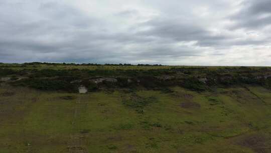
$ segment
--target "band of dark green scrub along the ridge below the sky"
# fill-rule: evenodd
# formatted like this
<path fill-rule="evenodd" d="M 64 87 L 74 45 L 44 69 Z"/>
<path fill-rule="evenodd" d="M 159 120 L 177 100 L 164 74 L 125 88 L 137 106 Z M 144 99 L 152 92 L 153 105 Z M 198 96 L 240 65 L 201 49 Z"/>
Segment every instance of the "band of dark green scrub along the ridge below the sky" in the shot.
<path fill-rule="evenodd" d="M 269 67 L 25 63 L 0 64 L 0 76 L 11 77 L 14 86 L 70 93 L 76 93 L 81 85 L 90 91 L 114 88 L 165 90 L 180 86 L 202 92 L 213 87 L 236 85 L 258 85 L 271 89 Z"/>

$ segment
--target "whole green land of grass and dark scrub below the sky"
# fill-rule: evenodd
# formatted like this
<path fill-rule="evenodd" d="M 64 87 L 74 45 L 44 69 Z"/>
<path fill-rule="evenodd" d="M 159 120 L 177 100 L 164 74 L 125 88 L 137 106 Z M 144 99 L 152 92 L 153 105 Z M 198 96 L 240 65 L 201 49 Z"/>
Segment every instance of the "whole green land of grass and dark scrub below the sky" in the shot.
<path fill-rule="evenodd" d="M 270 74 L 0 64 L 0 152 L 271 152 Z"/>

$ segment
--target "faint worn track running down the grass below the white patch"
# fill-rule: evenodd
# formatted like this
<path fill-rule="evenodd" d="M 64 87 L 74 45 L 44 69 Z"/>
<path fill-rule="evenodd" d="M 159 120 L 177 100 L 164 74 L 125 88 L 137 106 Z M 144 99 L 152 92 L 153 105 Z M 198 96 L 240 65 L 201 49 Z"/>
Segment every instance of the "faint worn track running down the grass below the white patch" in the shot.
<path fill-rule="evenodd" d="M 84 134 L 80 133 L 78 129 L 80 129 L 80 124 L 77 124 L 80 120 L 80 113 L 85 108 L 85 103 L 81 103 L 81 96 L 79 96 L 73 113 L 72 120 L 72 128 L 73 132 L 70 134 L 69 142 L 68 142 L 68 152 L 72 153 L 88 153 L 86 146 L 84 145 Z"/>

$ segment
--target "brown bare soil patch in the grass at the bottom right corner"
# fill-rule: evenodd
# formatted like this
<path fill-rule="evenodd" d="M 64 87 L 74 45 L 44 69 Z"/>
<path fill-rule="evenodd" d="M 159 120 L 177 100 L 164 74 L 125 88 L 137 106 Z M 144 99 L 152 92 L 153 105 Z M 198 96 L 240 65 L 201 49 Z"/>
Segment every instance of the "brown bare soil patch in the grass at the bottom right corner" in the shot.
<path fill-rule="evenodd" d="M 269 145 L 267 144 L 268 141 L 269 139 L 266 136 L 254 134 L 241 138 L 239 141 L 237 141 L 237 144 L 251 148 L 257 153 L 266 153 L 271 151 Z"/>

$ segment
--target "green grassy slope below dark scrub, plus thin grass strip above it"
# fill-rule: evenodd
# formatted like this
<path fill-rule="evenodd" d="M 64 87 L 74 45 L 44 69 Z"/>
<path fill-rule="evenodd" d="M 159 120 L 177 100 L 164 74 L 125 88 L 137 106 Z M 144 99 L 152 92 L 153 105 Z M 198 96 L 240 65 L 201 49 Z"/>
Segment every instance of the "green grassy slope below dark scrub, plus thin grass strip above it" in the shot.
<path fill-rule="evenodd" d="M 271 90 L 259 85 L 78 94 L 3 82 L 0 152 L 271 152 L 270 110 Z"/>

